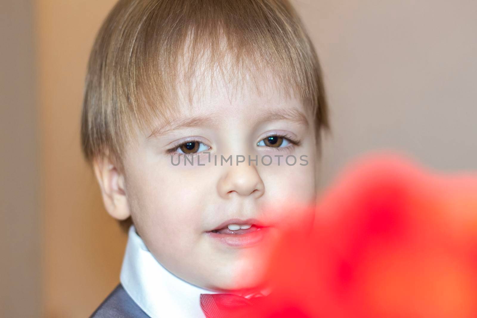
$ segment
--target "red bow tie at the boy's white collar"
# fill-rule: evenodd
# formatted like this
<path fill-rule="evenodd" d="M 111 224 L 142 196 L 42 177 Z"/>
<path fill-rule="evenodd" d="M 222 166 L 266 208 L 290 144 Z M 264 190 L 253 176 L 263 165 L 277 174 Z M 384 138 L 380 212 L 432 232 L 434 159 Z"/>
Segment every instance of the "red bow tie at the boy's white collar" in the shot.
<path fill-rule="evenodd" d="M 259 310 L 265 296 L 245 298 L 234 294 L 200 294 L 200 307 L 207 318 L 232 318 Z"/>

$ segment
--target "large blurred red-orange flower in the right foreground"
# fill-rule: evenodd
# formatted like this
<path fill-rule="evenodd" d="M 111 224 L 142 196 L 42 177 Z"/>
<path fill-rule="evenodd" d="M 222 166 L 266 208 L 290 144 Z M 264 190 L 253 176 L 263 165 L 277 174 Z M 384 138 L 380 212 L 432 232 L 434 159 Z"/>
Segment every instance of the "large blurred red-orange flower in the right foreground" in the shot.
<path fill-rule="evenodd" d="M 283 236 L 268 273 L 274 291 L 240 317 L 475 318 L 477 175 L 368 156 L 323 193 L 311 236 Z"/>

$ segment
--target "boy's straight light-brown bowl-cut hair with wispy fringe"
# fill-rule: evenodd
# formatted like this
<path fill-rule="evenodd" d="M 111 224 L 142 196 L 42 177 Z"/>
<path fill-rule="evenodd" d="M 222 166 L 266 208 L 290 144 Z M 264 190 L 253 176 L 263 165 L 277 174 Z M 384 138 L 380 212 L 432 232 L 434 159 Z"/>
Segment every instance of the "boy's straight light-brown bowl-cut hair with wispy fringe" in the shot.
<path fill-rule="evenodd" d="M 319 140 L 328 128 L 320 65 L 287 0 L 120 0 L 88 63 L 83 154 L 89 162 L 108 154 L 121 164 L 134 125 L 174 113 L 179 82 L 191 99 L 194 80 L 202 82 L 197 73 L 241 79 L 259 92 L 262 71 L 311 107 Z"/>

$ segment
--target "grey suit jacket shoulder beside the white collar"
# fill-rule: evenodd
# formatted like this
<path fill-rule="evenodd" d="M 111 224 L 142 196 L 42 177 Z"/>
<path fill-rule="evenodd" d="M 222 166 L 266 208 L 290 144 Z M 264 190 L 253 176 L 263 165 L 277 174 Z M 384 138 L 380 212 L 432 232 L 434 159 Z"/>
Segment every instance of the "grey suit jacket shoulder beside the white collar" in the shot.
<path fill-rule="evenodd" d="M 119 284 L 90 318 L 150 318 Z"/>

